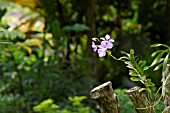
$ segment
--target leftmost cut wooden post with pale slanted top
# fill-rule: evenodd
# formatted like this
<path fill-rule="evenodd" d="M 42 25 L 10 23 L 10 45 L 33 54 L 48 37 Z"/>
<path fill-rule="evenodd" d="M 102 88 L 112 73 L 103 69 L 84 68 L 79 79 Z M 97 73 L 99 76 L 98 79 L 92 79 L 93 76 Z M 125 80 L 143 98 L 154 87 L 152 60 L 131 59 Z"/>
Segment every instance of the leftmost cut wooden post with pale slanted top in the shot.
<path fill-rule="evenodd" d="M 120 112 L 118 99 L 110 81 L 91 90 L 90 95 L 98 102 L 101 113 Z"/>

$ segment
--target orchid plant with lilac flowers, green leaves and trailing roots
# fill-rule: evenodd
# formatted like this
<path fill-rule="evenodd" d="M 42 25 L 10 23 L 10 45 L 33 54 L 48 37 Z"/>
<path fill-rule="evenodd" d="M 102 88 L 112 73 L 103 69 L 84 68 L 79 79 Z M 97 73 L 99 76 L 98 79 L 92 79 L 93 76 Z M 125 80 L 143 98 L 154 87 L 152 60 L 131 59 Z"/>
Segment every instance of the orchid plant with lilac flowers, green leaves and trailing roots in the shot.
<path fill-rule="evenodd" d="M 161 67 L 163 67 L 162 68 L 162 74 L 163 74 L 169 62 L 170 47 L 165 44 L 151 45 L 151 47 L 160 47 L 160 46 L 164 47 L 165 50 L 157 50 L 153 52 L 151 57 L 153 57 L 154 60 L 151 63 L 151 65 L 147 66 L 146 61 L 138 60 L 138 58 L 135 56 L 135 52 L 133 49 L 130 50 L 130 53 L 126 53 L 125 51 L 122 51 L 121 53 L 123 54 L 123 56 L 120 58 L 114 57 L 112 53 L 109 51 L 110 49 L 113 48 L 113 42 L 114 40 L 108 34 L 106 34 L 105 37 L 92 38 L 93 51 L 97 52 L 99 57 L 104 57 L 108 54 L 115 60 L 123 61 L 127 65 L 127 68 L 129 68 L 130 80 L 140 81 L 142 84 L 144 84 L 145 87 L 141 88 L 140 91 L 146 90 L 149 93 L 149 99 L 152 102 L 153 101 L 152 91 L 150 87 L 154 86 L 155 84 L 151 81 L 151 79 L 147 78 L 146 70 L 148 70 L 150 67 L 155 66 L 154 71 L 156 71 L 160 69 Z M 165 56 L 165 58 L 163 56 Z M 163 83 L 163 84 L 167 84 L 167 83 Z M 162 86 L 162 89 L 164 87 L 165 85 Z M 162 90 L 161 97 L 155 103 L 152 102 L 151 106 L 155 106 L 160 101 L 163 94 L 164 92 Z"/>

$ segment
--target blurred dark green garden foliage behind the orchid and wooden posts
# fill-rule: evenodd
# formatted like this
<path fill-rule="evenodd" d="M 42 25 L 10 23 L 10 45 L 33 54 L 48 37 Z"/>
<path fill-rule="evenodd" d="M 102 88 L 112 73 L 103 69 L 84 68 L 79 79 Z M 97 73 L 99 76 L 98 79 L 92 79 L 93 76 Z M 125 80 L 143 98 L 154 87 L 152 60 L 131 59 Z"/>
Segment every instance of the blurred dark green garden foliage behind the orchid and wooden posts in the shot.
<path fill-rule="evenodd" d="M 133 48 L 150 63 L 150 45 L 170 43 L 170 0 L 0 0 L 0 113 L 97 113 L 89 92 L 108 80 L 132 113 L 121 89 L 141 84 L 91 48 L 106 34 L 114 56 Z M 161 72 L 148 75 L 159 88 Z"/>

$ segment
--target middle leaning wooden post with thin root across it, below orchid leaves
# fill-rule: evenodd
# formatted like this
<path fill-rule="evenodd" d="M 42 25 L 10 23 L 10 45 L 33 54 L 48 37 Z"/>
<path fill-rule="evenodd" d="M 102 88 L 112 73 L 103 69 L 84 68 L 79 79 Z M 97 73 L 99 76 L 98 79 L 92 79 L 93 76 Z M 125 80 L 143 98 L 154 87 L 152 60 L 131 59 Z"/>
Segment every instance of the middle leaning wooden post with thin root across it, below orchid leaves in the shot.
<path fill-rule="evenodd" d="M 140 87 L 135 86 L 126 91 L 135 107 L 136 113 L 155 113 L 154 108 L 151 107 L 152 103 L 149 102 L 143 92 L 139 92 L 140 89 Z"/>

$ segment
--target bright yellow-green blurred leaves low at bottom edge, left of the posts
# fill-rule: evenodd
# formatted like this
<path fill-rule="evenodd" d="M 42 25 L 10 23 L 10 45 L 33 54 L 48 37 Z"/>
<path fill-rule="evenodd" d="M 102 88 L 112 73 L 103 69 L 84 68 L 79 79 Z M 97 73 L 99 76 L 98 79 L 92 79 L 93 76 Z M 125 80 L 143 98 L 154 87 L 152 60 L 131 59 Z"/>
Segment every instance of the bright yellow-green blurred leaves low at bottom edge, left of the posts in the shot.
<path fill-rule="evenodd" d="M 85 96 L 69 97 L 70 105 L 60 108 L 54 103 L 54 100 L 47 99 L 36 105 L 33 109 L 36 113 L 90 113 L 90 107 L 84 107 L 82 101 L 86 99 Z"/>

